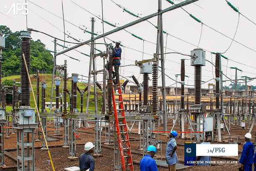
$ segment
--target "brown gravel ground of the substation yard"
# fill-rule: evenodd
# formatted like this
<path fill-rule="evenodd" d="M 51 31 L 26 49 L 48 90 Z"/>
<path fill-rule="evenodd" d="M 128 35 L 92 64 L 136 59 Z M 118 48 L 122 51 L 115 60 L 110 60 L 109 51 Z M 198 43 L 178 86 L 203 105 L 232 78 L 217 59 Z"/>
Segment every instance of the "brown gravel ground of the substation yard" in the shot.
<path fill-rule="evenodd" d="M 93 123 L 90 123 L 90 126 L 92 126 Z M 47 125 L 48 126 L 48 135 L 49 137 L 54 134 L 54 129 L 53 125 Z M 168 123 L 168 130 L 171 130 L 172 123 Z M 63 127 L 62 127 L 63 128 Z M 187 125 L 185 125 L 185 128 L 187 128 Z M 137 129 L 137 126 L 134 125 L 134 129 Z M 176 131 L 179 131 L 180 128 L 178 126 L 175 126 L 174 129 Z M 163 125 L 160 125 L 159 130 L 163 130 Z M 256 129 L 253 129 L 252 135 L 254 136 Z M 79 139 L 76 140 L 76 143 L 86 143 L 88 141 L 94 142 L 94 131 L 93 128 L 87 129 L 79 129 L 80 131 L 80 137 Z M 186 129 L 185 131 L 189 131 L 189 129 Z M 104 132 L 104 131 L 103 131 Z M 130 146 L 132 150 L 138 151 L 140 149 L 140 141 L 138 140 L 140 138 L 139 135 L 137 135 L 136 130 L 134 131 L 135 133 L 131 133 L 129 135 L 130 139 L 136 138 L 136 141 L 130 141 Z M 231 127 L 230 134 L 233 135 L 245 135 L 245 133 L 248 132 L 248 129 L 238 129 L 235 127 Z M 61 131 L 63 135 L 63 131 Z M 227 131 L 222 132 L 224 134 L 227 134 Z M 184 143 L 184 142 L 189 142 L 189 134 L 186 134 L 186 137 L 188 139 L 181 139 L 181 138 L 176 138 L 177 143 Z M 63 138 L 63 136 L 59 136 L 59 138 Z M 49 141 L 48 145 L 63 145 L 63 139 L 55 138 L 59 141 Z M 163 133 L 156 134 L 156 139 L 161 140 L 162 143 L 162 151 L 158 150 L 158 155 L 159 156 L 165 156 L 165 148 L 166 148 L 166 142 L 168 141 L 168 136 L 164 135 Z M 101 137 L 101 142 L 105 141 L 104 134 Z M 243 144 L 243 139 L 240 139 L 241 144 Z M 254 139 L 252 140 L 254 142 Z M 10 138 L 5 138 L 4 140 L 4 148 L 9 149 L 9 148 L 16 148 L 16 134 L 10 134 Z M 34 146 L 41 146 L 41 141 L 35 142 Z M 243 145 L 238 145 L 238 149 L 242 150 Z M 70 166 L 78 166 L 78 161 L 68 161 L 67 157 L 69 156 L 69 149 L 68 148 L 50 148 L 50 153 L 52 156 L 52 160 L 54 163 L 54 168 L 56 171 L 61 171 L 63 168 L 70 167 Z M 83 150 L 83 145 L 78 145 L 77 146 L 77 156 L 80 156 L 84 152 Z M 183 146 L 178 146 L 177 148 L 177 155 L 178 158 L 184 158 L 184 147 Z M 16 155 L 16 151 L 10 152 L 13 155 Z M 114 168 L 114 152 L 113 150 L 109 148 L 101 148 L 101 154 L 103 157 L 98 157 L 96 158 L 96 167 L 95 171 L 112 171 Z M 137 154 L 132 154 L 132 159 L 136 161 L 140 161 L 140 158 L 142 158 L 141 155 Z M 240 158 L 240 156 L 239 156 Z M 238 158 L 238 159 L 239 159 Z M 39 168 L 41 168 L 44 171 L 52 171 L 52 166 L 50 166 L 50 163 L 48 162 L 49 156 L 47 151 L 41 151 L 40 149 L 35 150 L 35 165 Z M 163 159 L 165 160 L 165 159 Z M 215 160 L 215 159 L 212 159 Z M 184 163 L 180 163 L 184 164 Z M 5 156 L 5 165 L 7 166 L 13 166 L 16 165 L 16 162 L 10 160 L 7 156 Z M 216 171 L 216 170 L 222 170 L 222 171 L 235 171 L 238 170 L 239 166 L 228 166 L 228 165 L 222 165 L 222 166 L 192 166 L 189 169 L 186 169 L 185 171 Z M 164 167 L 158 167 L 159 171 L 166 171 L 168 168 Z M 137 164 L 134 164 L 134 171 L 140 171 L 140 167 Z"/>

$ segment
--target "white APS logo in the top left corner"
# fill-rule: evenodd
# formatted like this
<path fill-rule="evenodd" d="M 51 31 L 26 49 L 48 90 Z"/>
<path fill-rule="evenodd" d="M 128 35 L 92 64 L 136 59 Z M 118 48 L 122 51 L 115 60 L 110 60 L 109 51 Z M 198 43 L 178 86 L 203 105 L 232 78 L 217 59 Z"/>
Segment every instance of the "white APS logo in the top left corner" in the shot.
<path fill-rule="evenodd" d="M 7 11 L 7 15 L 9 15 L 9 13 L 11 11 L 13 11 L 13 15 L 18 15 L 19 11 L 21 11 L 21 14 L 23 15 L 27 15 L 28 14 L 28 8 L 27 7 L 27 3 L 13 3 L 11 6 L 7 3 L 3 6 L 3 10 Z"/>

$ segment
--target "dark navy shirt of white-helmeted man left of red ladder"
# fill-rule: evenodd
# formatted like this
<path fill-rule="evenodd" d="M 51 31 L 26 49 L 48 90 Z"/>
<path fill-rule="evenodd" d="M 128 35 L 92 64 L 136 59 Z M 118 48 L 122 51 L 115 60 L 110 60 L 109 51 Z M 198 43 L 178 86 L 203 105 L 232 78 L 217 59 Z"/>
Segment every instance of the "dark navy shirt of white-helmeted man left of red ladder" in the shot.
<path fill-rule="evenodd" d="M 80 171 L 86 171 L 88 168 L 90 168 L 90 171 L 93 171 L 94 166 L 95 166 L 95 159 L 93 158 L 93 156 L 91 156 L 90 153 L 85 152 L 79 157 Z"/>

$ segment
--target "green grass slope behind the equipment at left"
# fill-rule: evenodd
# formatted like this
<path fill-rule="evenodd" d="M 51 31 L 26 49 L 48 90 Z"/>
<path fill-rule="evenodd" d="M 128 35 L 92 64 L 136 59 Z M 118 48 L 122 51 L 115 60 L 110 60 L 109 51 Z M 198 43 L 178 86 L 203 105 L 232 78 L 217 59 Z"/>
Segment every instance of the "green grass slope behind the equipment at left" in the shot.
<path fill-rule="evenodd" d="M 32 78 L 32 75 L 30 75 L 31 77 L 31 83 L 32 83 L 32 87 L 33 87 L 33 91 L 34 91 L 34 95 L 35 95 L 35 98 L 36 98 L 36 78 Z M 15 80 L 16 82 L 20 82 L 21 78 L 20 78 L 20 75 L 12 75 L 12 76 L 8 76 L 8 77 L 5 77 L 3 78 L 3 80 Z M 50 102 L 51 101 L 51 89 L 52 89 L 52 74 L 40 74 L 40 88 L 39 88 L 39 99 L 40 99 L 40 103 L 39 103 L 39 111 L 41 111 L 41 80 L 44 80 L 46 81 L 46 90 L 45 90 L 45 100 L 46 102 Z M 89 110 L 90 111 L 93 111 L 95 110 L 94 106 L 95 106 L 95 101 L 94 101 L 94 91 L 93 91 L 93 84 L 91 84 L 91 88 L 90 88 L 90 97 L 89 97 Z M 64 82 L 63 84 L 61 83 L 59 88 L 60 88 L 60 92 L 59 93 L 62 93 L 62 90 L 61 90 L 61 87 L 64 86 Z M 85 89 L 85 87 L 87 86 L 87 83 L 77 83 L 77 86 L 80 88 L 81 91 L 83 91 Z M 55 84 L 53 84 L 53 89 L 56 88 Z M 71 79 L 68 79 L 67 80 L 67 89 L 69 91 L 71 91 Z M 101 99 L 102 99 L 102 96 L 101 96 L 101 91 L 97 88 L 97 92 L 98 92 L 98 112 L 101 111 Z M 53 102 L 56 102 L 55 100 L 55 96 L 56 96 L 56 91 L 53 91 Z M 87 103 L 87 92 L 85 92 L 83 94 L 83 112 L 86 111 L 86 103 Z M 80 93 L 77 91 L 77 108 L 78 110 L 80 111 L 80 100 L 81 100 L 81 96 L 80 96 Z M 64 102 L 64 100 L 63 100 Z M 69 95 L 67 94 L 67 102 L 68 104 L 70 105 L 70 97 Z M 34 98 L 33 98 L 33 95 L 32 95 L 32 92 L 30 93 L 30 106 L 32 108 L 35 108 L 35 102 L 34 102 Z M 10 109 L 9 109 L 10 107 Z M 68 106 L 67 106 L 68 107 Z M 8 106 L 8 109 L 6 108 L 6 111 L 7 110 L 12 110 L 12 106 Z M 50 109 L 46 109 L 47 112 L 50 112 Z M 52 111 L 54 111 L 54 108 L 52 108 Z"/>

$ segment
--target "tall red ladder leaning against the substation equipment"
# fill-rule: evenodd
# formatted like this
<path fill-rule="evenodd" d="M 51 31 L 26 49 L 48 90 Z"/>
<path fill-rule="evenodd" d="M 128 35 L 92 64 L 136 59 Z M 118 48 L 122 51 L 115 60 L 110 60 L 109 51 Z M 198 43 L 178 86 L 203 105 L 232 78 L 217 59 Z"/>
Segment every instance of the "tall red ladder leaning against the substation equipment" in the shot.
<path fill-rule="evenodd" d="M 115 114 L 115 123 L 116 123 L 116 130 L 117 130 L 117 137 L 118 137 L 118 144 L 119 144 L 119 150 L 120 150 L 120 156 L 121 156 L 121 162 L 122 162 L 122 168 L 123 171 L 127 170 L 127 165 L 130 166 L 130 168 L 133 170 L 133 164 L 132 164 L 132 153 L 130 149 L 130 142 L 129 142 L 129 136 L 127 131 L 127 125 L 124 115 L 124 103 L 122 98 L 122 91 L 120 86 L 120 81 L 118 83 L 118 93 L 114 94 L 114 87 L 112 87 L 112 98 L 113 98 L 113 107 L 114 107 L 114 114 Z M 116 101 L 115 96 L 119 96 L 119 101 Z M 116 103 L 120 104 L 120 109 L 116 109 Z M 121 114 L 117 114 L 117 111 L 121 111 Z M 120 132 L 122 130 L 122 132 Z M 122 136 L 121 136 L 122 135 Z M 127 152 L 127 156 L 124 156 L 124 152 Z M 124 158 L 126 158 L 127 162 L 124 161 Z"/>

